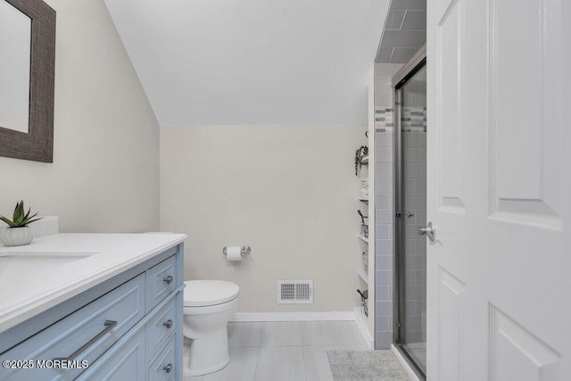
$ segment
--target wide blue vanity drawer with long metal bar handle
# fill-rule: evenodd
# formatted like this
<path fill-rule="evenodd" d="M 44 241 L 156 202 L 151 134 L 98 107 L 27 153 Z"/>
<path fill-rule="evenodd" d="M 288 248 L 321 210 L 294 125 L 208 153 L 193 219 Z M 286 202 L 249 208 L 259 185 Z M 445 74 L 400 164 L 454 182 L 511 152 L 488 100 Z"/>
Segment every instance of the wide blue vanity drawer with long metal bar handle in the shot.
<path fill-rule="evenodd" d="M 1 360 L 87 360 L 107 351 L 145 316 L 145 274 L 4 352 Z M 70 356 L 75 353 L 75 357 Z M 4 369 L 0 379 L 72 379 L 84 369 Z"/>

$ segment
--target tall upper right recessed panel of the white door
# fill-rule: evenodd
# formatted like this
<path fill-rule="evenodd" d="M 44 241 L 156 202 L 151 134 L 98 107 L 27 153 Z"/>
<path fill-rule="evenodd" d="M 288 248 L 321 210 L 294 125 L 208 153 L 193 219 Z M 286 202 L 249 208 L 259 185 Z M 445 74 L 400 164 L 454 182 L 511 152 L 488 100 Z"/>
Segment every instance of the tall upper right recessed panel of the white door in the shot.
<path fill-rule="evenodd" d="M 562 228 L 560 10 L 560 0 L 488 2 L 491 219 Z"/>

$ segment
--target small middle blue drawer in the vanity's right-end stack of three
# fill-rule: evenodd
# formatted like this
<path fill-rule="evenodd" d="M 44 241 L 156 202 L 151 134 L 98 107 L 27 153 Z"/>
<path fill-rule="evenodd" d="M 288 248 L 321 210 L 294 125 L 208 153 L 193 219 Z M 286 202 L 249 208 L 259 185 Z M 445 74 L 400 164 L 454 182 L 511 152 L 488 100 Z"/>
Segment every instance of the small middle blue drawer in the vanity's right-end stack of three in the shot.
<path fill-rule="evenodd" d="M 173 295 L 166 304 L 153 312 L 153 317 L 146 323 L 146 358 L 149 363 L 170 340 L 177 327 L 176 299 Z"/>

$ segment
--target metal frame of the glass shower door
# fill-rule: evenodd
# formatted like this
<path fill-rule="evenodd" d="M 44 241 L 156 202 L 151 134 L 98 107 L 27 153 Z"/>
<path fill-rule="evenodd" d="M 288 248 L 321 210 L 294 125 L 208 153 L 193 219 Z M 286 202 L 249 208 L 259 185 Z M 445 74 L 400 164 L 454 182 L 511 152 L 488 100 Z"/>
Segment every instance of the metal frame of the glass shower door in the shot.
<path fill-rule="evenodd" d="M 394 263 L 394 286 L 393 286 L 393 345 L 401 356 L 409 363 L 410 369 L 414 370 L 420 379 L 426 379 L 425 373 L 418 368 L 416 362 L 401 346 L 401 331 L 405 328 L 404 319 L 401 319 L 401 311 L 404 311 L 404 298 L 401 297 L 401 259 L 398 253 L 402 248 L 404 232 L 402 224 L 402 150 L 401 150 L 401 88 L 414 77 L 419 70 L 426 67 L 426 45 L 421 46 L 417 53 L 405 63 L 393 77 L 393 115 L 394 115 L 394 141 L 393 141 L 393 173 L 394 173 L 394 215 L 393 215 L 393 263 Z"/>

